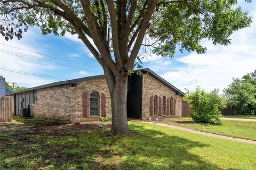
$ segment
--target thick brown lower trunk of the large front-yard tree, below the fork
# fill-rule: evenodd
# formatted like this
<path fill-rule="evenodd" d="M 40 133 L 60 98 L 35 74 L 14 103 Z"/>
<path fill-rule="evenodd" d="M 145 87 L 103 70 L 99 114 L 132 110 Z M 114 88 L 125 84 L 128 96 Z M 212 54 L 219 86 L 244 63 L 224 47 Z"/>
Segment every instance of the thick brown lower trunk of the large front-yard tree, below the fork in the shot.
<path fill-rule="evenodd" d="M 105 75 L 111 97 L 111 134 L 127 135 L 129 134 L 126 107 L 128 76 L 124 72 L 119 73 L 116 77 L 111 73 Z"/>

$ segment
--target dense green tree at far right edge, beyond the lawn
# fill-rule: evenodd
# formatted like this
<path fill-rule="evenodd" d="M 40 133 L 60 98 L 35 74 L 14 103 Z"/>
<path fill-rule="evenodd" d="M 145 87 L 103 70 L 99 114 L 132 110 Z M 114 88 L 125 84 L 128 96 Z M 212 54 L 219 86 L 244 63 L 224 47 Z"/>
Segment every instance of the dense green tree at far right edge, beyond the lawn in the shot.
<path fill-rule="evenodd" d="M 256 70 L 245 74 L 223 90 L 228 97 L 228 106 L 234 107 L 238 114 L 256 114 Z"/>

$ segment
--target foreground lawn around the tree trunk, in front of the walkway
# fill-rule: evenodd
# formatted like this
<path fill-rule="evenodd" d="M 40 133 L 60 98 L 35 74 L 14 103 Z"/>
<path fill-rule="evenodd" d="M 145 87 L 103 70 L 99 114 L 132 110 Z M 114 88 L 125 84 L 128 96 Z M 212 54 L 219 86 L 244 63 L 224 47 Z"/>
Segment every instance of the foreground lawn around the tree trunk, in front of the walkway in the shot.
<path fill-rule="evenodd" d="M 256 146 L 129 122 L 66 125 L 37 118 L 0 123 L 0 169 L 255 169 Z M 22 121 L 23 123 L 19 123 Z"/>

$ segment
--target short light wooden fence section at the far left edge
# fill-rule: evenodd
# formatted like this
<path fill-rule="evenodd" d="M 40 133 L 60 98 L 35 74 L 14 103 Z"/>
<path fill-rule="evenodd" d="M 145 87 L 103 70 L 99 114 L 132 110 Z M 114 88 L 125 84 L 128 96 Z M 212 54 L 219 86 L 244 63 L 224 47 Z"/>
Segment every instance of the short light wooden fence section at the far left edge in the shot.
<path fill-rule="evenodd" d="M 0 97 L 0 122 L 12 121 L 12 98 Z"/>

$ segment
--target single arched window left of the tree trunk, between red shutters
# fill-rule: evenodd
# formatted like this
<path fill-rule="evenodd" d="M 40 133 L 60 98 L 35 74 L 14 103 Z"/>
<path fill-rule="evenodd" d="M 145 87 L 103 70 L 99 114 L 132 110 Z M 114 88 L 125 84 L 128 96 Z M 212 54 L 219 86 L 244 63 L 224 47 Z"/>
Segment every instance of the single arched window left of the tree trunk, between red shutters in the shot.
<path fill-rule="evenodd" d="M 90 116 L 100 115 L 100 96 L 97 91 L 90 93 Z"/>

